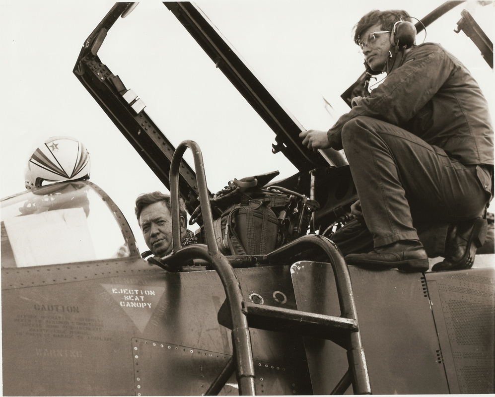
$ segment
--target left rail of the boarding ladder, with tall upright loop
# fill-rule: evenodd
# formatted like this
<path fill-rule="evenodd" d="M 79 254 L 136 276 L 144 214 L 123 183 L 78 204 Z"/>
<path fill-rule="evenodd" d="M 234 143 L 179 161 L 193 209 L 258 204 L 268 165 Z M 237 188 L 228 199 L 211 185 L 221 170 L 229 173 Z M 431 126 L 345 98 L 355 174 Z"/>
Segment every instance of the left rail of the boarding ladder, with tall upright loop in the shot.
<path fill-rule="evenodd" d="M 179 170 L 182 156 L 187 148 L 193 153 L 194 167 L 198 181 L 199 199 L 203 214 L 207 245 L 195 244 L 181 248 L 180 244 L 180 213 L 179 213 Z M 170 197 L 172 213 L 172 244 L 171 260 L 190 259 L 191 257 L 210 262 L 218 273 L 230 308 L 232 318 L 232 348 L 236 364 L 239 395 L 256 395 L 254 386 L 254 364 L 251 346 L 251 336 L 247 318 L 242 311 L 242 291 L 234 269 L 227 259 L 218 251 L 216 246 L 212 208 L 206 183 L 203 155 L 198 144 L 192 140 L 182 141 L 172 156 L 170 165 Z M 164 261 L 167 261 L 167 257 Z"/>

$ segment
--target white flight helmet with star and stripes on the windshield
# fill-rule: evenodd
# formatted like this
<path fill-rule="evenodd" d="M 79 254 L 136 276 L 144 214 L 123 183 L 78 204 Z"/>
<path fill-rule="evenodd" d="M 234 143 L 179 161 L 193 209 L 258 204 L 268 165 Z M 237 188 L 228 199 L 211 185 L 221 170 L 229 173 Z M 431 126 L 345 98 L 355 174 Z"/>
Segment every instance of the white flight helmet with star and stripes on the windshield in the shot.
<path fill-rule="evenodd" d="M 82 142 L 70 136 L 52 136 L 31 155 L 24 174 L 26 189 L 44 181 L 89 179 L 89 153 Z"/>

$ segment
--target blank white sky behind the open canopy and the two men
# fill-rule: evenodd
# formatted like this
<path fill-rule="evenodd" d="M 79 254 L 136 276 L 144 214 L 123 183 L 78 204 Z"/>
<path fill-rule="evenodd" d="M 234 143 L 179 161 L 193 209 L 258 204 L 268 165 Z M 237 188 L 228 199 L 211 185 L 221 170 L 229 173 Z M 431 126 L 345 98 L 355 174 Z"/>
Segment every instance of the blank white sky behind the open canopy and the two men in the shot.
<path fill-rule="evenodd" d="M 352 40 L 355 22 L 371 9 L 404 8 L 422 18 L 441 3 L 198 2 L 296 119 L 307 129 L 325 130 L 334 119 L 322 96 L 337 113 L 346 112 L 340 94 L 363 71 Z M 167 191 L 72 73 L 82 44 L 112 5 L 101 0 L 0 0 L 0 197 L 24 190 L 24 168 L 36 145 L 54 135 L 74 136 L 90 152 L 90 180 L 119 205 L 144 251 L 134 200 L 141 193 Z M 464 33 L 453 33 L 464 7 L 428 27 L 426 40 L 441 43 L 470 68 L 493 115 L 493 71 Z M 495 20 L 493 5 L 483 7 L 480 16 Z M 493 32 L 490 36 L 494 41 Z M 423 38 L 422 33 L 418 39 Z M 127 18 L 119 18 L 98 56 L 138 93 L 172 144 L 198 142 L 210 191 L 233 178 L 296 172 L 281 153 L 271 154 L 275 134 L 160 1 L 143 1 Z"/>

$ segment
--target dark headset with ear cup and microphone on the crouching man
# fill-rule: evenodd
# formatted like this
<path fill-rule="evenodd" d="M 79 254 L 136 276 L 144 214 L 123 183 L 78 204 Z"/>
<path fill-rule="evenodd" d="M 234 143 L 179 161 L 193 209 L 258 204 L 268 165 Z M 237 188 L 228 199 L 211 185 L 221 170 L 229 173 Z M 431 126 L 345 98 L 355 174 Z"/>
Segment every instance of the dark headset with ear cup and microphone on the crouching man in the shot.
<path fill-rule="evenodd" d="M 364 62 L 364 66 L 366 67 L 366 79 L 364 84 L 365 92 L 367 92 L 369 79 L 372 76 L 381 74 L 384 71 L 389 73 L 392 69 L 395 69 L 396 67 L 402 65 L 406 56 L 405 50 L 411 48 L 416 40 L 416 27 L 414 26 L 414 24 L 412 22 L 403 20 L 402 17 L 399 18 L 400 19 L 394 23 L 392 32 L 390 34 L 390 44 L 392 44 L 392 46 L 394 47 L 394 55 L 396 55 L 395 60 L 392 65 L 389 65 L 388 61 L 394 58 L 394 55 L 392 54 L 392 52 L 390 52 L 390 57 L 384 68 L 378 71 L 371 70 L 368 64 Z M 401 57 L 397 56 L 399 52 L 402 52 Z"/>

